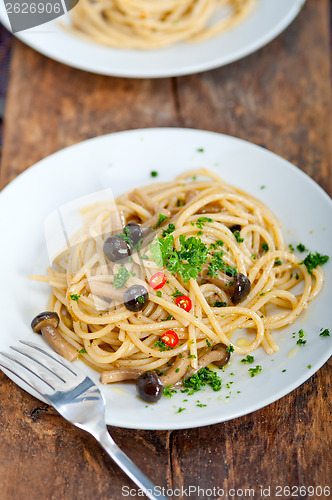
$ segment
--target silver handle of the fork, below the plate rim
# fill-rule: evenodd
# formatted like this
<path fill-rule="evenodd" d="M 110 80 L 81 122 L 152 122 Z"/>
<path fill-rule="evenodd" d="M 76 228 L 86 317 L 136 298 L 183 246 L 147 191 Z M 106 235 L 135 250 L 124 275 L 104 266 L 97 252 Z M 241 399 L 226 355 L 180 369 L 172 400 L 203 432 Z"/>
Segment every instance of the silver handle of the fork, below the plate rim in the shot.
<path fill-rule="evenodd" d="M 113 441 L 106 428 L 105 431 L 99 436 L 98 441 L 114 462 L 127 474 L 128 477 L 130 477 L 134 483 L 137 484 L 137 486 L 140 487 L 150 500 L 169 500 L 168 497 L 161 494 L 162 489 L 157 488 L 150 481 L 150 479 L 148 479 L 143 472 L 136 467 L 134 462 L 132 462 L 130 458 L 123 453 L 123 451 Z M 157 495 L 155 495 L 154 492 L 157 493 Z"/>

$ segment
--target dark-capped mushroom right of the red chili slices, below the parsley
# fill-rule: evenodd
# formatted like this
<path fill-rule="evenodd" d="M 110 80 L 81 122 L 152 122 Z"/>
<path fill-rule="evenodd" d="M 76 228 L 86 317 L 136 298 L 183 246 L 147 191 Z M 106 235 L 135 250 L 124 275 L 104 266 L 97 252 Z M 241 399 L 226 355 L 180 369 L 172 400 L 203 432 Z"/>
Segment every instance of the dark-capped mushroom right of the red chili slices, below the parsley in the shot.
<path fill-rule="evenodd" d="M 242 302 L 251 290 L 249 279 L 242 273 L 237 273 L 236 276 L 227 276 L 219 271 L 218 276 L 210 276 L 209 267 L 204 265 L 200 277 L 224 290 L 234 304 Z"/>

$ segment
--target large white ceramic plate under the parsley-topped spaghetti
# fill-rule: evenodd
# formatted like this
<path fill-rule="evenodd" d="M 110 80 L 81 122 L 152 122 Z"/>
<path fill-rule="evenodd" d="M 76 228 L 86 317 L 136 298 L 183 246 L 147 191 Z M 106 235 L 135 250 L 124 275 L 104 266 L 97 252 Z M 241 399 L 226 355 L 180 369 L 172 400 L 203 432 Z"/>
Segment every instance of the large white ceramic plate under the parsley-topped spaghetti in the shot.
<path fill-rule="evenodd" d="M 164 181 L 202 166 L 265 202 L 282 221 L 287 243 L 302 242 L 311 251 L 332 255 L 331 199 L 302 171 L 265 149 L 212 132 L 175 128 L 91 139 L 45 158 L 0 195 L 0 350 L 19 339 L 43 344 L 29 325 L 45 309 L 49 288 L 29 281 L 28 275 L 42 274 L 48 265 L 43 224 L 52 210 L 103 188 L 111 187 L 118 195 L 153 182 L 152 170 L 159 172 L 158 181 Z M 134 384 L 100 386 L 108 424 L 140 429 L 213 424 L 262 408 L 295 389 L 323 365 L 332 349 L 332 337 L 319 336 L 320 328 L 332 326 L 332 261 L 324 271 L 326 283 L 317 300 L 295 324 L 276 334 L 280 352 L 270 357 L 260 348 L 255 353 L 261 374 L 251 378 L 239 356 L 221 373 L 220 392 L 207 389 L 191 397 L 179 393 L 148 407 L 136 396 Z M 291 333 L 300 328 L 307 344 L 294 350 L 297 339 Z M 93 370 L 76 363 L 98 383 Z M 197 400 L 207 406 L 196 406 Z M 177 413 L 180 407 L 186 410 Z"/>

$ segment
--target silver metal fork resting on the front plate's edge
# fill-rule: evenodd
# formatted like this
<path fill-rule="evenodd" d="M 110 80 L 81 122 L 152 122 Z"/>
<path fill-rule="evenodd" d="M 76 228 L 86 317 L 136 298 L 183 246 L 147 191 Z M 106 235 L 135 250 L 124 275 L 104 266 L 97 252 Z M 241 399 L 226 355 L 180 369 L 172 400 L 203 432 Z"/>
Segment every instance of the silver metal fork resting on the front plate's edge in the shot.
<path fill-rule="evenodd" d="M 75 365 L 31 342 L 10 346 L 15 354 L 0 352 L 0 366 L 34 389 L 66 420 L 92 434 L 109 456 L 151 500 L 154 484 L 120 450 L 107 431 L 105 400 L 96 384 Z"/>

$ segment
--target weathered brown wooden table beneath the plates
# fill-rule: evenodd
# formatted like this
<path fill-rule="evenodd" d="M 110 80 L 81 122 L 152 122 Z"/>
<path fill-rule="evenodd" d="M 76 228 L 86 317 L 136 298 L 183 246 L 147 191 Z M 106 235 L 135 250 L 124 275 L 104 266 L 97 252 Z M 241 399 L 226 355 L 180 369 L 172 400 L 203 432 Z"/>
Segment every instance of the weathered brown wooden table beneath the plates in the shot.
<path fill-rule="evenodd" d="M 328 8 L 328 0 L 308 0 L 267 47 L 224 68 L 181 78 L 126 80 L 84 73 L 16 41 L 1 186 L 41 158 L 89 137 L 180 126 L 263 145 L 331 195 Z M 325 486 L 332 477 L 331 366 L 280 401 L 231 422 L 184 431 L 110 432 L 157 485 L 225 491 L 191 498 L 242 497 L 232 495 L 231 488 L 254 488 L 256 498 L 278 498 L 277 485 Z M 2 500 L 118 500 L 123 485 L 134 487 L 92 437 L 3 374 L 0 436 Z M 261 485 L 270 486 L 271 494 L 261 495 Z"/>

